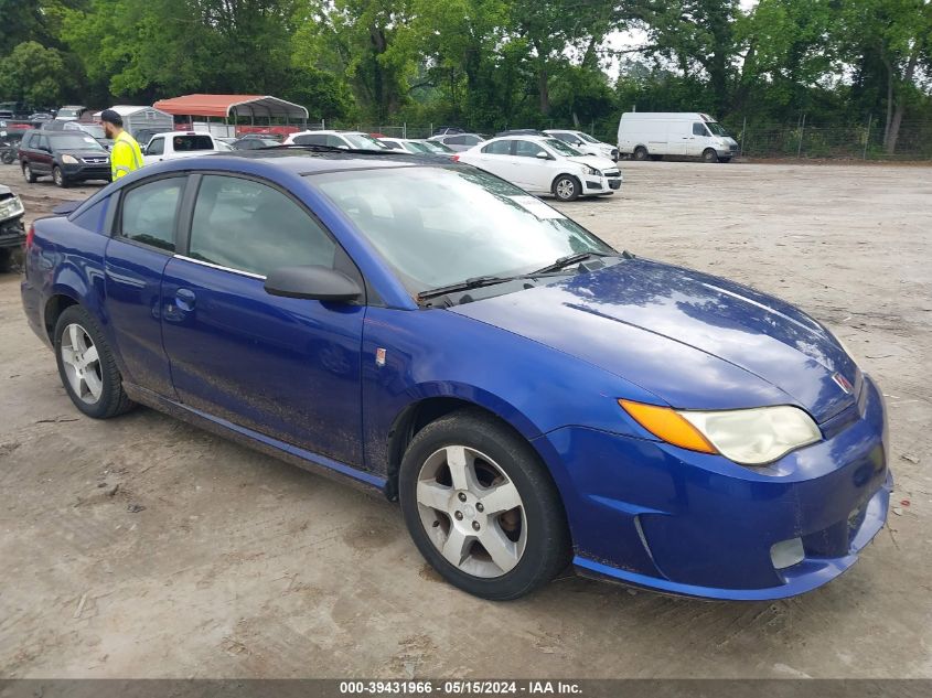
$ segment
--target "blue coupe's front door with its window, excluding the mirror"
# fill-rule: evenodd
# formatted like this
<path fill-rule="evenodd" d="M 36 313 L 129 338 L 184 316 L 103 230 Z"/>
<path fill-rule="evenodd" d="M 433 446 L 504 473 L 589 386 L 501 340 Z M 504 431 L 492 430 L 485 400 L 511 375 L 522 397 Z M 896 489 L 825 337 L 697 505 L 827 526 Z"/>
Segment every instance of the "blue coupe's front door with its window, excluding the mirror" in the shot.
<path fill-rule="evenodd" d="M 362 468 L 365 305 L 264 289 L 279 267 L 358 275 L 342 248 L 283 192 L 221 174 L 200 178 L 189 238 L 162 282 L 162 333 L 180 400 Z"/>

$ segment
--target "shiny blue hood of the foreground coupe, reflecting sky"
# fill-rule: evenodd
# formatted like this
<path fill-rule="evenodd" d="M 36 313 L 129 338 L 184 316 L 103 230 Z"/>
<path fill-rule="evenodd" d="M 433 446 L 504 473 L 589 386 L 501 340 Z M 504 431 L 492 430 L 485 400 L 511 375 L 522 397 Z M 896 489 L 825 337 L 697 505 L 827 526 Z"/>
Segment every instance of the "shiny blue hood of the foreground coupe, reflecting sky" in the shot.
<path fill-rule="evenodd" d="M 796 404 L 822 422 L 854 402 L 842 385 L 860 380 L 832 334 L 789 303 L 650 260 L 451 311 L 594 364 L 677 408 Z"/>

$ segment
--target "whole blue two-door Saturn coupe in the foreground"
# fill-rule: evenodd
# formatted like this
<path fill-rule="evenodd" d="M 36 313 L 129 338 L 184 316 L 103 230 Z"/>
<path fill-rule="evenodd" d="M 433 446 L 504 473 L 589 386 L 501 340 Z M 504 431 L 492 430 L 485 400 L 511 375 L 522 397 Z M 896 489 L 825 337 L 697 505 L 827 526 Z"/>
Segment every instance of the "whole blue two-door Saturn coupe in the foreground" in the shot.
<path fill-rule="evenodd" d="M 147 405 L 382 490 L 486 599 L 568 565 L 790 597 L 886 519 L 883 400 L 825 326 L 449 160 L 147 167 L 34 224 L 22 299 L 85 415 Z"/>

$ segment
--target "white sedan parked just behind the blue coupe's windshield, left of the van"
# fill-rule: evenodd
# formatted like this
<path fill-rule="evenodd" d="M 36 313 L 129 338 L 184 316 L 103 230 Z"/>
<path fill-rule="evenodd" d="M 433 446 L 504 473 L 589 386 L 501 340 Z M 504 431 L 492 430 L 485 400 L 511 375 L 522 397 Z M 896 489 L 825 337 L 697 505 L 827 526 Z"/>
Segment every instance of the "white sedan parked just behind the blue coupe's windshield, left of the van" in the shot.
<path fill-rule="evenodd" d="M 556 138 L 503 136 L 461 152 L 454 160 L 496 174 L 534 194 L 560 201 L 613 194 L 621 187 L 618 165 L 587 155 Z"/>

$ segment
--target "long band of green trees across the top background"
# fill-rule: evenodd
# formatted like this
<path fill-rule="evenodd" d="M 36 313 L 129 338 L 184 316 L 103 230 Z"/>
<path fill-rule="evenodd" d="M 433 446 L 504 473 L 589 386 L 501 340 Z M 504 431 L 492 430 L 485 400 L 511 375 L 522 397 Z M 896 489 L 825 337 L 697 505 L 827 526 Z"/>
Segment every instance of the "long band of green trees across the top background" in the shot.
<path fill-rule="evenodd" d="M 632 108 L 706 111 L 736 129 L 802 114 L 860 128 L 872 115 L 888 152 L 904 119 L 932 119 L 932 2 L 744 4 L 0 0 L 0 99 L 272 94 L 328 121 L 579 125 L 609 138 Z"/>

